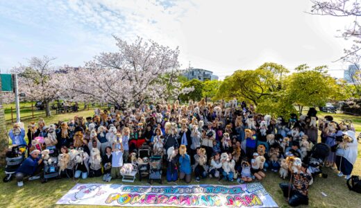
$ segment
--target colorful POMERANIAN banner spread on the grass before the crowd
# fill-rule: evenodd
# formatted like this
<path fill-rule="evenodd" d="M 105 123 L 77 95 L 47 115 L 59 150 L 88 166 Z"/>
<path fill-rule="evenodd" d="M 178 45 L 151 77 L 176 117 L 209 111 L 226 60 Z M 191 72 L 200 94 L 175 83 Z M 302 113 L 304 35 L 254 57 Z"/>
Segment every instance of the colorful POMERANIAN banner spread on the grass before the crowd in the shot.
<path fill-rule="evenodd" d="M 237 186 L 76 184 L 56 204 L 128 207 L 278 207 L 260 183 Z"/>

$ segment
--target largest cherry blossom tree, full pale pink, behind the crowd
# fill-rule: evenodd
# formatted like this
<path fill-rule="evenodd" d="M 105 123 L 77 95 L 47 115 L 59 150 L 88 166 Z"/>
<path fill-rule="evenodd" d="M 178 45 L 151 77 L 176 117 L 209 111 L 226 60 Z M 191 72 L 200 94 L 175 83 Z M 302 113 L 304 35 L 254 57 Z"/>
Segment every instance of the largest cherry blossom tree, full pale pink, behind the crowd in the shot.
<path fill-rule="evenodd" d="M 192 89 L 181 89 L 179 50 L 138 37 L 128 43 L 115 37 L 117 52 L 103 52 L 85 67 L 67 69 L 64 92 L 69 98 L 112 103 L 121 109 L 152 103 Z"/>

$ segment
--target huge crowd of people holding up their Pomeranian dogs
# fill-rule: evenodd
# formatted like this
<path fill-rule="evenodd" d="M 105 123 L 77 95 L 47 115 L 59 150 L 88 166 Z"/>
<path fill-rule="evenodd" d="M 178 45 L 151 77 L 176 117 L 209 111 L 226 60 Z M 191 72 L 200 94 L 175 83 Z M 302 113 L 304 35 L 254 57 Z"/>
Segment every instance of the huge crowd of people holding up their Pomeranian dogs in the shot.
<path fill-rule="evenodd" d="M 9 136 L 14 145 L 26 144 L 24 129 L 17 124 Z M 40 119 L 28 125 L 27 137 L 28 157 L 16 173 L 19 186 L 24 177 L 36 179 L 51 164 L 49 152 L 59 152 L 58 177 L 102 176 L 110 182 L 124 175 L 124 164 L 146 162 L 136 158 L 137 151 L 149 148 L 151 155 L 162 156 L 168 182 L 208 177 L 244 183 L 261 181 L 269 172 L 292 177 L 292 184 L 280 184 L 289 205 L 308 205 L 314 145 L 330 148 L 323 164 L 337 168 L 340 177 L 351 177 L 358 154 L 354 130 L 332 116 L 319 119 L 310 108 L 307 115 L 274 118 L 255 113 L 253 105 L 235 98 L 214 105 L 202 99 L 187 105 L 176 101 L 128 110 L 96 109 L 85 119 L 75 116 L 50 125 Z"/>

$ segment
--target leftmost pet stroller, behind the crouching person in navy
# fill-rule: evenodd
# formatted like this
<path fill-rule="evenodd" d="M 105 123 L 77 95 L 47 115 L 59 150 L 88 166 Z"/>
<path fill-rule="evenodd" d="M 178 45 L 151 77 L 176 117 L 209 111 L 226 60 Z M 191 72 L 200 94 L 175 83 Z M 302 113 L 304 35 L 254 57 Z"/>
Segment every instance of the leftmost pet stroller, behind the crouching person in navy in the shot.
<path fill-rule="evenodd" d="M 3 177 L 3 182 L 9 182 L 12 180 L 12 175 L 15 175 L 15 171 L 25 160 L 26 148 L 27 146 L 25 144 L 13 146 L 11 150 L 6 153 L 6 176 Z"/>

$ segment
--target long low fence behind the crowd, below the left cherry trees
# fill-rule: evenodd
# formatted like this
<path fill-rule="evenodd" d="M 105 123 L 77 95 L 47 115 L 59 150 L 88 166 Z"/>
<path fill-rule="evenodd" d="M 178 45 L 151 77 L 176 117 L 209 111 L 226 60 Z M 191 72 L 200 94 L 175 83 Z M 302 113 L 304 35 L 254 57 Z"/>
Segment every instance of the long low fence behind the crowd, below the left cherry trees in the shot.
<path fill-rule="evenodd" d="M 83 110 L 92 110 L 95 108 L 110 108 L 112 105 L 102 104 L 102 103 L 81 103 L 76 105 L 71 103 L 70 105 L 63 105 L 62 103 L 52 103 L 50 105 L 51 114 L 64 114 L 70 112 L 78 112 Z M 31 106 L 22 106 L 19 107 L 20 116 L 23 120 L 34 119 L 46 115 L 44 107 L 35 107 L 33 103 Z M 14 123 L 16 121 L 16 108 L 10 107 L 4 110 L 5 119 L 7 123 Z"/>

